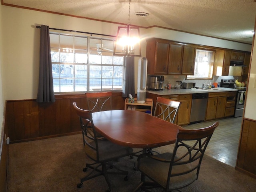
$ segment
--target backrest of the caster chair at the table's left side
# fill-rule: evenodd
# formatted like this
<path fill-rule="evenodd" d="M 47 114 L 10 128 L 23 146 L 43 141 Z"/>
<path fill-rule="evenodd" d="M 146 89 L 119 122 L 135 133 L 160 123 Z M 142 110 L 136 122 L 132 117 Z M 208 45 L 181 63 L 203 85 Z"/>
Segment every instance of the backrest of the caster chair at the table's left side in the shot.
<path fill-rule="evenodd" d="M 89 147 L 95 151 L 96 159 L 94 156 L 87 154 L 87 152 L 86 154 L 92 158 L 92 160 L 97 161 L 99 160 L 98 140 L 96 138 L 97 132 L 92 121 L 92 112 L 79 108 L 76 105 L 76 102 L 73 103 L 73 106 L 80 120 L 84 146 L 86 145 L 86 147 Z"/>

